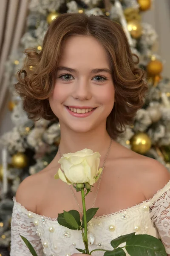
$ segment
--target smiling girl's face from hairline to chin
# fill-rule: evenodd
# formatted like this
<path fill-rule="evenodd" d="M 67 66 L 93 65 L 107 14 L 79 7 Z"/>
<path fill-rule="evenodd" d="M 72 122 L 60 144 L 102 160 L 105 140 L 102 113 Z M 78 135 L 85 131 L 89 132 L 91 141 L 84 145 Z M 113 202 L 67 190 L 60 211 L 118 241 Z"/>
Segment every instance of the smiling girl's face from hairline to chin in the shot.
<path fill-rule="evenodd" d="M 50 106 L 64 125 L 88 132 L 106 119 L 114 105 L 114 85 L 107 53 L 92 36 L 71 36 L 65 42 Z"/>

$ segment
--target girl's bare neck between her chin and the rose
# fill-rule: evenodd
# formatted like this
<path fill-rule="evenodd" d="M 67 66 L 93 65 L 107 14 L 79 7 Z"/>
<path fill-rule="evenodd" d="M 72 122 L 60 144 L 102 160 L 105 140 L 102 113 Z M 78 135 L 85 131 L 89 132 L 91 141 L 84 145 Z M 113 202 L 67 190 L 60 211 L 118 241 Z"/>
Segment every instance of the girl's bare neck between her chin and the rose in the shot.
<path fill-rule="evenodd" d="M 59 147 L 61 154 L 68 152 L 74 153 L 84 148 L 88 148 L 94 152 L 98 151 L 103 157 L 111 142 L 111 138 L 104 125 L 100 125 L 96 129 L 85 133 L 72 131 L 62 124 L 60 124 L 60 129 L 61 141 Z"/>

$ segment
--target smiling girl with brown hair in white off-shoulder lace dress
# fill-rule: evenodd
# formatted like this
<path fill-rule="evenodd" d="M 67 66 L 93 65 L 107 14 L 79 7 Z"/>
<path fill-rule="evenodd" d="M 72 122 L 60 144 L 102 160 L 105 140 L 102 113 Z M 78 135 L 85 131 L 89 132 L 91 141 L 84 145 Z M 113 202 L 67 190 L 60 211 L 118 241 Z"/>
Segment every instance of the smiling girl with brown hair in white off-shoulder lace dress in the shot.
<path fill-rule="evenodd" d="M 54 160 L 17 190 L 11 256 L 31 255 L 19 235 L 39 256 L 69 256 L 84 248 L 80 231 L 57 223 L 63 209 L 82 215 L 81 193 L 54 179 L 62 154 L 84 148 L 99 151 L 104 169 L 86 198 L 87 209 L 99 207 L 88 225 L 89 250 L 110 250 L 112 239 L 135 231 L 160 236 L 170 255 L 170 175 L 156 160 L 116 143 L 147 90 L 133 57 L 119 24 L 84 14 L 60 15 L 49 26 L 40 54 L 27 51 L 16 90 L 29 118 L 59 121 L 61 142 Z M 29 65 L 34 65 L 30 74 Z"/>

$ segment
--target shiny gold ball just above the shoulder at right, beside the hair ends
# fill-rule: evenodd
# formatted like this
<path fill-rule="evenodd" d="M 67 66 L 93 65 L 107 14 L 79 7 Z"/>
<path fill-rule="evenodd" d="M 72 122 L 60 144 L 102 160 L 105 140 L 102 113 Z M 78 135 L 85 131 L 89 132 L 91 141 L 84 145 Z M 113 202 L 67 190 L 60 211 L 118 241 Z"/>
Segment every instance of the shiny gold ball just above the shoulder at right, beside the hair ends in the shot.
<path fill-rule="evenodd" d="M 145 133 L 135 134 L 131 140 L 131 149 L 139 154 L 145 154 L 151 147 L 150 137 Z"/>

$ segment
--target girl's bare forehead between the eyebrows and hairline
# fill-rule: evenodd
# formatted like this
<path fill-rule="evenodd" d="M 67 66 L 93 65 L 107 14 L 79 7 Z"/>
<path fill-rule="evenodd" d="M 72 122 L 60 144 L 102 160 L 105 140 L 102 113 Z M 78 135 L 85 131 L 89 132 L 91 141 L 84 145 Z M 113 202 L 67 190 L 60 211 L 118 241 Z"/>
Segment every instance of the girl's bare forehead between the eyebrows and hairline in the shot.
<path fill-rule="evenodd" d="M 92 36 L 69 37 L 62 49 L 59 65 L 76 67 L 109 67 L 108 55 L 102 44 Z"/>

